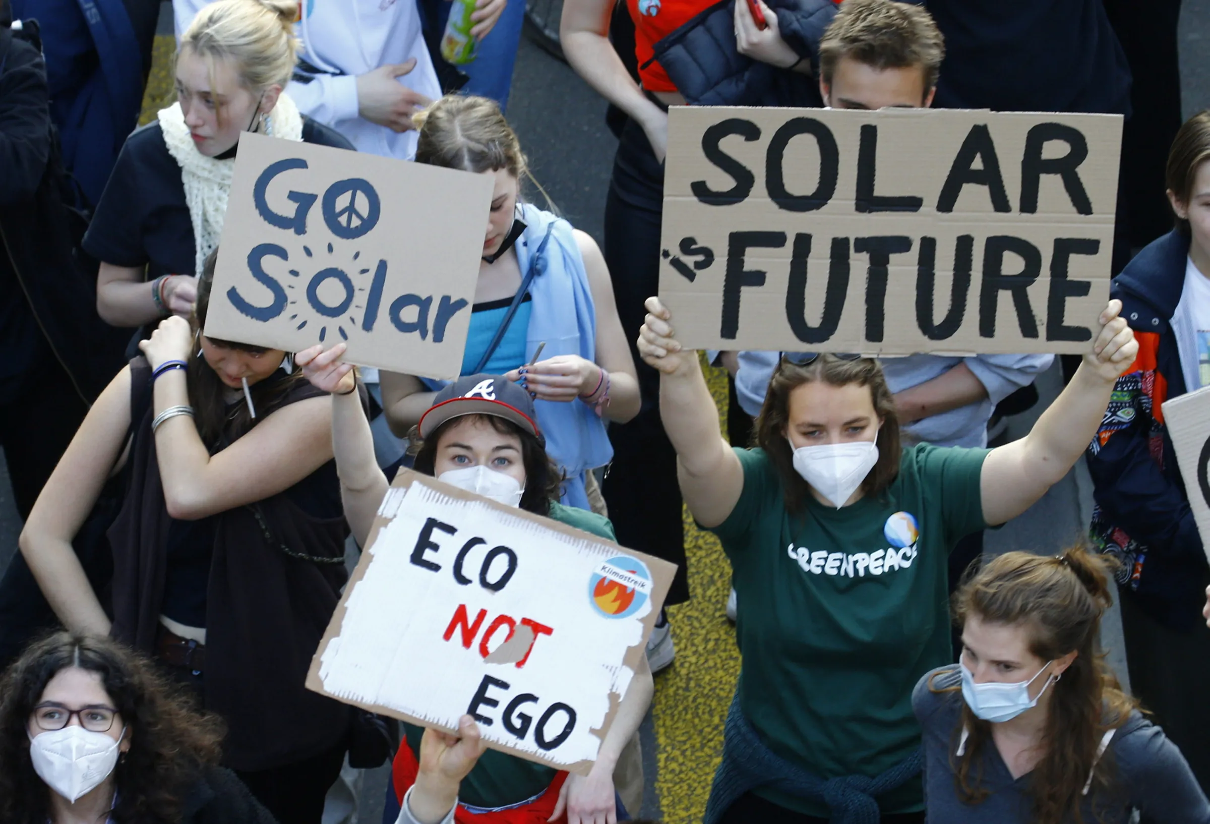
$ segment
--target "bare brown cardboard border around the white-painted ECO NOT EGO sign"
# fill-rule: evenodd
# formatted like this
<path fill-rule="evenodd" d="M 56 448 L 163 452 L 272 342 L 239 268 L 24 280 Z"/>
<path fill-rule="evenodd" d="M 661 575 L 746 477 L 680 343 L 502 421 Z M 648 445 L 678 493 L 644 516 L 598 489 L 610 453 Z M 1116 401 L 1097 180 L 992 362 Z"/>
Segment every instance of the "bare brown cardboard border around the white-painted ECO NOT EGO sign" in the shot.
<path fill-rule="evenodd" d="M 676 572 L 675 564 L 661 560 L 659 558 L 646 555 L 634 549 L 628 549 L 612 541 L 606 541 L 605 538 L 599 537 L 597 535 L 592 535 L 590 532 L 583 532 L 581 530 L 567 526 L 566 524 L 552 520 L 551 518 L 543 518 L 541 515 L 535 515 L 531 512 L 525 512 L 523 509 L 508 507 L 502 503 L 496 503 L 495 501 L 489 501 L 472 492 L 457 489 L 456 486 L 443 484 L 436 478 L 420 474 L 411 469 L 401 469 L 398 474 L 396 474 L 394 483 L 391 484 L 391 488 L 409 489 L 414 483 L 421 483 L 425 486 L 428 486 L 431 489 L 442 492 L 443 495 L 448 495 L 449 497 L 461 499 L 465 501 L 482 501 L 488 506 L 495 507 L 501 512 L 507 513 L 511 517 L 531 520 L 536 524 L 541 524 L 542 526 L 552 531 L 561 532 L 563 535 L 575 538 L 577 541 L 589 541 L 592 543 L 607 547 L 611 551 L 624 553 L 627 555 L 633 555 L 639 560 L 641 560 L 643 563 L 645 563 L 647 565 L 647 569 L 651 570 L 651 610 L 647 612 L 647 616 L 643 620 L 643 638 L 639 640 L 638 645 L 627 649 L 626 656 L 622 659 L 623 663 L 627 667 L 629 667 L 632 672 L 635 673 L 638 672 L 639 661 L 643 656 L 646 655 L 647 638 L 650 638 L 651 630 L 656 626 L 656 618 L 659 616 L 659 607 L 663 606 L 664 598 L 668 597 L 668 589 L 669 587 L 672 587 L 673 575 L 675 575 Z M 323 652 L 324 650 L 328 649 L 328 645 L 332 643 L 332 640 L 340 634 L 340 627 L 345 621 L 345 611 L 347 609 L 348 598 L 352 594 L 353 588 L 358 583 L 361 583 L 362 578 L 365 577 L 365 571 L 369 569 L 370 561 L 373 560 L 373 553 L 370 553 L 369 551 L 374 546 L 374 542 L 378 541 L 379 532 L 391 520 L 392 518 L 384 518 L 381 514 L 379 514 L 374 519 L 374 525 L 370 528 L 370 534 L 365 542 L 365 547 L 362 549 L 361 560 L 357 561 L 357 569 L 353 570 L 353 575 L 348 578 L 348 583 L 345 586 L 345 592 L 340 598 L 340 603 L 336 605 L 336 611 L 333 612 L 332 621 L 328 623 L 328 629 L 323 634 L 323 640 L 319 641 L 319 647 L 316 650 L 315 657 L 311 658 L 311 669 L 307 672 L 306 676 L 306 688 L 311 690 L 312 692 L 318 692 L 321 695 L 328 696 L 329 698 L 340 701 L 341 703 L 361 707 L 362 709 L 369 710 L 370 713 L 378 713 L 379 715 L 386 715 L 388 718 L 399 719 L 401 721 L 408 721 L 409 724 L 415 724 L 417 726 L 434 727 L 437 730 L 440 730 L 442 732 L 457 734 L 457 730 L 455 728 L 439 726 L 430 720 L 421 719 L 414 715 L 408 715 L 390 707 L 338 698 L 336 696 L 327 692 L 323 688 L 323 680 L 319 678 L 319 662 L 321 658 L 323 657 Z M 600 727 L 590 728 L 589 732 L 598 736 L 604 742 L 605 734 L 609 732 L 609 728 L 613 725 L 613 720 L 617 718 L 617 710 L 621 703 L 622 703 L 622 696 L 620 696 L 617 692 L 611 693 L 610 709 L 605 714 L 605 721 L 601 724 Z M 588 771 L 592 770 L 593 766 L 593 761 L 587 761 L 587 760 L 577 761 L 576 764 L 569 765 L 554 761 L 552 759 L 543 759 L 542 756 L 535 755 L 534 753 L 528 753 L 520 749 L 507 747 L 505 744 L 497 744 L 496 742 L 485 742 L 485 743 L 488 744 L 489 748 L 494 750 L 500 750 L 501 753 L 508 753 L 509 755 L 515 755 L 518 757 L 525 759 L 526 761 L 536 761 L 538 764 L 544 764 L 548 767 L 554 767 L 555 770 L 566 770 L 569 772 L 574 772 L 581 776 L 587 776 Z"/>

